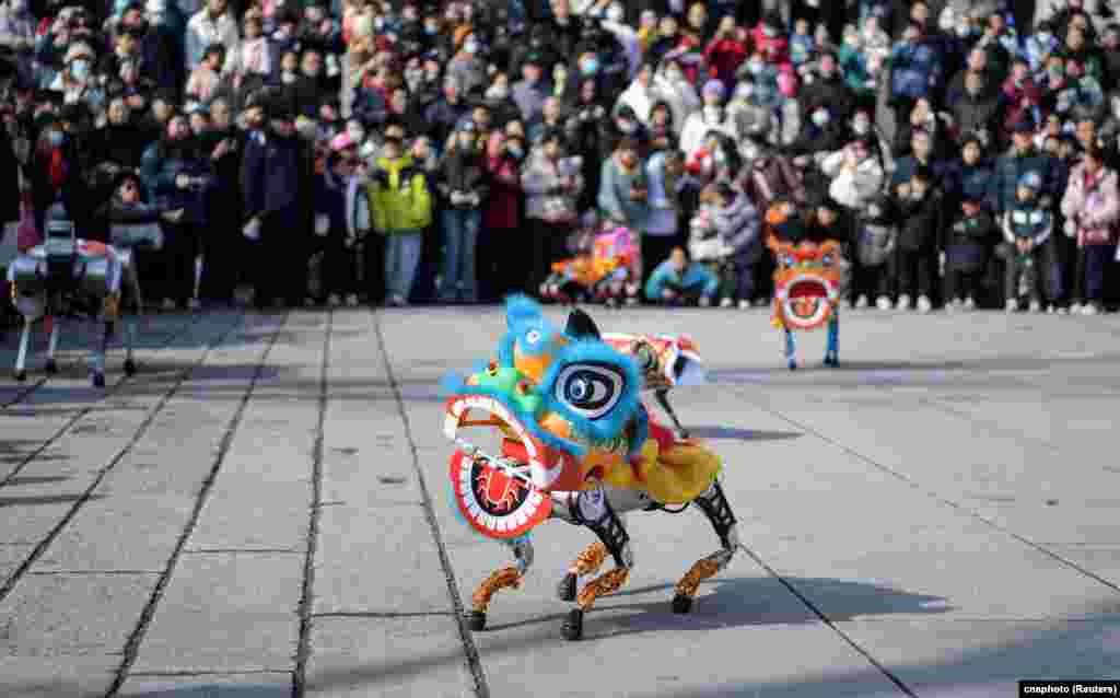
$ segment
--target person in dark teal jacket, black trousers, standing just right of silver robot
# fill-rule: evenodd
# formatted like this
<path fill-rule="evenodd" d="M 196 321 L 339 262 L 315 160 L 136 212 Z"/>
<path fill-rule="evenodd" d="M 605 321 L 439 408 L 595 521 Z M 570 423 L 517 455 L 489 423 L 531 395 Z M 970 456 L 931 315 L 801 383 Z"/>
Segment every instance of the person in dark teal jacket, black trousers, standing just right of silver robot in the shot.
<path fill-rule="evenodd" d="M 157 298 L 162 298 L 165 309 L 176 306 L 197 309 L 202 235 L 209 222 L 207 199 L 217 179 L 184 114 L 172 114 L 162 138 L 144 151 L 140 177 L 152 196 L 164 197 L 171 207 L 184 210 L 183 218 L 164 227 L 164 273 L 159 276 L 159 288 L 152 290 Z"/>

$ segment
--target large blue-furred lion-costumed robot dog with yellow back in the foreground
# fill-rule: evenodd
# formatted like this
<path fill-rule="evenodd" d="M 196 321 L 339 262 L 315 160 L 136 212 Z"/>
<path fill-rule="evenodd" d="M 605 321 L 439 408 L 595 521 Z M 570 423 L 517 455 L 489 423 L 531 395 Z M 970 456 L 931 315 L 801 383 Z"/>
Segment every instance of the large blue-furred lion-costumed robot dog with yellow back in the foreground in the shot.
<path fill-rule="evenodd" d="M 726 568 L 739 548 L 718 480 L 719 456 L 650 418 L 640 399 L 638 365 L 604 342 L 581 310 L 560 331 L 535 303 L 515 297 L 506 319 L 497 359 L 447 385 L 444 429 L 458 447 L 450 462 L 454 506 L 476 532 L 508 546 L 516 560 L 475 590 L 470 627 L 486 626 L 495 593 L 521 585 L 533 561 L 532 530 L 561 519 L 599 539 L 576 558 L 558 588 L 562 601 L 576 603 L 563 636 L 580 639 L 585 613 L 596 598 L 619 589 L 634 566 L 622 514 L 679 513 L 694 503 L 722 547 L 678 583 L 672 608 L 688 613 L 700 583 Z M 500 431 L 500 454 L 466 438 L 468 428 L 478 427 Z M 608 555 L 615 568 L 578 588 L 579 577 L 597 573 Z"/>

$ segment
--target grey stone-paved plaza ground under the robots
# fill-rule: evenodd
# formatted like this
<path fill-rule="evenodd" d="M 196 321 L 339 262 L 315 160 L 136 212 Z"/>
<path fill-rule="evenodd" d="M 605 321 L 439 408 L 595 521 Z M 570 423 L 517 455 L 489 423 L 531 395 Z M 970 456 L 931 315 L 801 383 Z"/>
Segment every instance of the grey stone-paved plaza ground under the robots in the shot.
<path fill-rule="evenodd" d="M 550 309 L 557 320 L 560 308 Z M 697 511 L 628 518 L 636 568 L 567 643 L 554 596 L 590 532 L 507 552 L 451 511 L 440 379 L 489 308 L 156 315 L 123 379 L 0 375 L 0 697 L 1016 696 L 1120 679 L 1120 317 L 847 311 L 784 367 L 764 310 L 591 309 L 689 333 L 673 398 L 724 457 L 740 552 Z M 44 346 L 43 338 L 39 348 Z M 0 344 L 10 366 L 16 337 Z M 657 408 L 653 408 L 659 415 Z"/>

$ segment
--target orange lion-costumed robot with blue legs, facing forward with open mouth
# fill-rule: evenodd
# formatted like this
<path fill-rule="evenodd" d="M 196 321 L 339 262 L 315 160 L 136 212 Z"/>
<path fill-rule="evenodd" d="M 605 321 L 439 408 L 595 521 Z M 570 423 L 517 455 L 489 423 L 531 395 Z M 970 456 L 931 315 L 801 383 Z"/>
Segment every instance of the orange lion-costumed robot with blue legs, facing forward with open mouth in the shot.
<path fill-rule="evenodd" d="M 793 206 L 775 204 L 766 213 L 766 246 L 774 253 L 774 314 L 772 324 L 785 333 L 785 359 L 791 371 L 797 367 L 794 332 L 827 325 L 824 365 L 840 364 L 840 243 L 793 244 L 780 241 L 774 230 L 790 220 Z"/>

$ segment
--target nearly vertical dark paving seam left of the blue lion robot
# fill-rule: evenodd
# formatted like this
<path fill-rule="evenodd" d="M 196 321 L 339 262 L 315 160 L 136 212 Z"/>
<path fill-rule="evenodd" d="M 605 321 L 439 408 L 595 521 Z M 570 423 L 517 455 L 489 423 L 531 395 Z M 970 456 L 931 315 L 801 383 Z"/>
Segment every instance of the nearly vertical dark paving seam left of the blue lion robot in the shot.
<path fill-rule="evenodd" d="M 315 426 L 315 445 L 311 447 L 311 506 L 307 527 L 307 551 L 304 558 L 304 586 L 299 597 L 299 640 L 296 645 L 296 670 L 291 674 L 293 698 L 307 691 L 307 663 L 311 655 L 311 606 L 315 603 L 315 553 L 318 550 L 319 519 L 323 503 L 323 435 L 327 418 L 327 374 L 330 370 L 330 335 L 335 313 L 327 311 L 327 329 L 323 337 L 323 357 L 319 361 L 318 421 Z"/>

